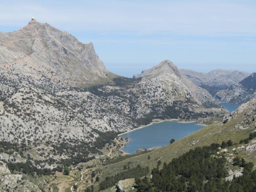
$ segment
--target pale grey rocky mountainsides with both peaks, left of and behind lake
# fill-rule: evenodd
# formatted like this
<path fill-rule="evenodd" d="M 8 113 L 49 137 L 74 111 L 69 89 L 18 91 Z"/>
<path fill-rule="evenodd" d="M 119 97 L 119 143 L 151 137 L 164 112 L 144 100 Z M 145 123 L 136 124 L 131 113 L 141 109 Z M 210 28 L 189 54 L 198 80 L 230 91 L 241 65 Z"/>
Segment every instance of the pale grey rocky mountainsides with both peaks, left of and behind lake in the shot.
<path fill-rule="evenodd" d="M 31 22 L 0 33 L 0 160 L 11 174 L 49 175 L 102 155 L 118 133 L 155 118 L 227 112 L 164 60 L 141 79 L 106 71 L 93 45 Z"/>

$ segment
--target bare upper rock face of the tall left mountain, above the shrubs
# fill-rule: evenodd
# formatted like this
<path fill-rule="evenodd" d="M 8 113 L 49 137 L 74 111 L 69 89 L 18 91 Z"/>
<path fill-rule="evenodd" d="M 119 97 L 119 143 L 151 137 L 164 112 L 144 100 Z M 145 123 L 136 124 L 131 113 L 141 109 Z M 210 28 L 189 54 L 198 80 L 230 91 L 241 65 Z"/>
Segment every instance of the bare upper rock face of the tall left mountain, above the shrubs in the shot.
<path fill-rule="evenodd" d="M 6 71 L 80 83 L 108 78 L 93 44 L 32 19 L 14 32 L 0 33 L 0 67 Z"/>

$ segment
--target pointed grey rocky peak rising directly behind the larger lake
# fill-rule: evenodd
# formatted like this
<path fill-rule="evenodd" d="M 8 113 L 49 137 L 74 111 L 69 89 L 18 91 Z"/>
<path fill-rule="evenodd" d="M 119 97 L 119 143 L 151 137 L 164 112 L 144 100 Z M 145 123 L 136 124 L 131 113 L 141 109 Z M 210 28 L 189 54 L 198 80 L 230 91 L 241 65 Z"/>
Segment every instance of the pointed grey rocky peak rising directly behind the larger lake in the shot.
<path fill-rule="evenodd" d="M 189 119 L 220 113 L 217 101 L 206 90 L 183 77 L 168 60 L 160 62 L 141 79 L 120 77 L 114 81 L 118 86 L 104 86 L 92 93 L 140 121 Z"/>

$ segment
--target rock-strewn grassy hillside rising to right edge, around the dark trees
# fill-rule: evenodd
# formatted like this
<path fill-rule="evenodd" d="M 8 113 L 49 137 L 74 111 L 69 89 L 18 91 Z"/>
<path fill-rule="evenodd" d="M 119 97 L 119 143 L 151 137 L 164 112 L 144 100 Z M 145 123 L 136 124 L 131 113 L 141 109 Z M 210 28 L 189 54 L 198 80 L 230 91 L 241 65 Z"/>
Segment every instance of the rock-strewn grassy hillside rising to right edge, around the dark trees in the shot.
<path fill-rule="evenodd" d="M 209 146 L 214 142 L 222 144 L 222 141 L 227 141 L 230 139 L 233 143 L 232 146 L 222 144 L 218 148 L 217 154 L 213 155 L 212 157 L 218 158 L 223 156 L 226 159 L 225 169 L 228 171 L 228 174 L 223 179 L 232 181 L 234 180 L 233 176 L 241 177 L 244 174 L 243 167 L 234 165 L 233 159 L 235 157 L 244 158 L 247 162 L 252 162 L 255 169 L 255 119 L 256 98 L 254 97 L 248 102 L 242 104 L 238 110 L 227 114 L 221 121 L 206 126 L 203 129 L 180 139 L 179 141 L 175 141 L 170 145 L 158 148 L 157 150 L 145 154 L 122 159 L 118 162 L 100 167 L 103 172 L 99 175 L 101 178 L 104 178 L 109 177 L 111 174 L 115 175 L 116 173 L 124 172 L 123 166 L 127 164 L 129 164 L 131 168 L 136 167 L 139 164 L 142 167 L 149 166 L 150 169 L 158 167 L 159 170 L 161 170 L 163 168 L 162 165 L 164 162 L 168 163 L 172 161 L 172 159 L 183 155 L 191 149 L 195 149 L 196 147 Z M 148 174 L 147 176 L 148 178 L 152 177 L 151 174 Z M 127 178 L 130 178 L 129 180 L 132 181 L 132 177 Z M 119 181 L 118 184 L 121 186 L 125 184 L 125 187 L 128 188 L 126 191 L 137 191 L 134 184 L 129 184 L 129 182 L 126 181 L 126 179 Z M 97 185 L 97 182 L 94 183 L 95 188 Z M 115 191 L 118 187 L 119 185 L 105 189 L 103 191 Z"/>

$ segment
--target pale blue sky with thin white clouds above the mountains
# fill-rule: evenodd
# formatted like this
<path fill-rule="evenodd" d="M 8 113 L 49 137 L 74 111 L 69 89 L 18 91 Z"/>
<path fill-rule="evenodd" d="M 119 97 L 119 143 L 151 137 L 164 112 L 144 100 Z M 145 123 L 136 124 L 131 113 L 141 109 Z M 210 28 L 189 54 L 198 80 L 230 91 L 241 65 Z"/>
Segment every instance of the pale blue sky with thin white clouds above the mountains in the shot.
<path fill-rule="evenodd" d="M 35 17 L 93 42 L 106 69 L 126 77 L 164 59 L 198 72 L 255 72 L 255 10 L 255 0 L 0 0 L 0 31 Z"/>

